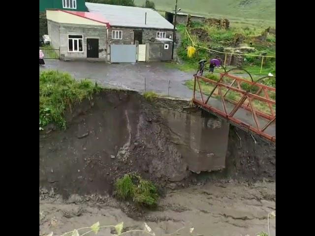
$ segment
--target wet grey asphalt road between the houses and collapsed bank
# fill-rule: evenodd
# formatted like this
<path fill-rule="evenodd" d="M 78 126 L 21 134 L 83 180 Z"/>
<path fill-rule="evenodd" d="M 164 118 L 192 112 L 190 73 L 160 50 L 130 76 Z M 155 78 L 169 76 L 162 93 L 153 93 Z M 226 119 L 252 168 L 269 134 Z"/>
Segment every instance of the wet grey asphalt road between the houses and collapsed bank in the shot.
<path fill-rule="evenodd" d="M 169 96 L 185 99 L 192 97 L 192 91 L 184 85 L 185 81 L 193 78 L 192 73 L 169 68 L 162 62 L 135 64 L 61 60 L 45 60 L 45 62 L 45 67 L 40 66 L 39 70 L 66 71 L 76 79 L 88 78 L 106 87 L 144 91 L 144 80 L 146 80 L 147 91 L 167 95 L 170 81 Z"/>

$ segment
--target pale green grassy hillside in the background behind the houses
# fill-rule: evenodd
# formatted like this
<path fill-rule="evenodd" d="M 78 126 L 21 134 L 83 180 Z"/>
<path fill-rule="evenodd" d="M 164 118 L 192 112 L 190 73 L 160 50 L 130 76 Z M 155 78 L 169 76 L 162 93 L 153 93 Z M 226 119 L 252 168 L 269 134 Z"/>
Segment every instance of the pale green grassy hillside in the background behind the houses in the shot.
<path fill-rule="evenodd" d="M 142 5 L 145 0 L 134 0 Z M 172 10 L 175 0 L 154 0 L 157 10 Z M 276 21 L 276 0 L 178 0 L 182 12 L 226 17 L 237 25 L 270 25 Z M 246 19 L 246 20 L 245 20 Z"/>

